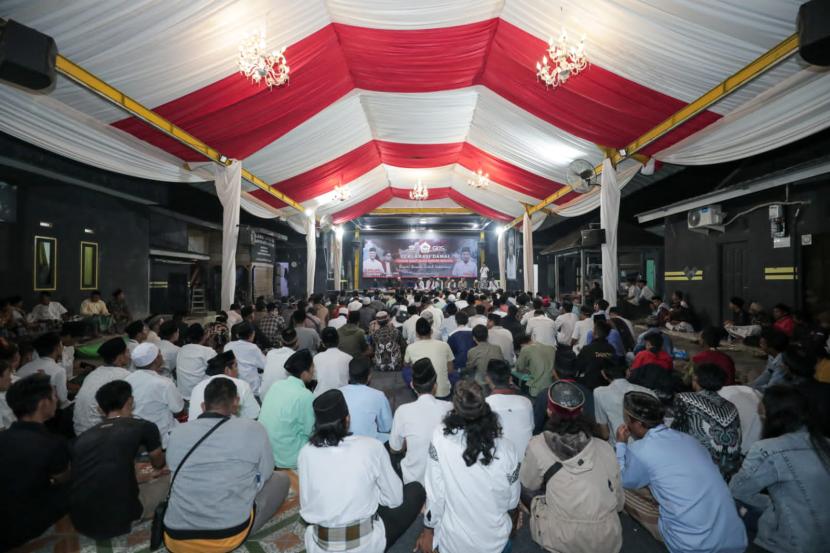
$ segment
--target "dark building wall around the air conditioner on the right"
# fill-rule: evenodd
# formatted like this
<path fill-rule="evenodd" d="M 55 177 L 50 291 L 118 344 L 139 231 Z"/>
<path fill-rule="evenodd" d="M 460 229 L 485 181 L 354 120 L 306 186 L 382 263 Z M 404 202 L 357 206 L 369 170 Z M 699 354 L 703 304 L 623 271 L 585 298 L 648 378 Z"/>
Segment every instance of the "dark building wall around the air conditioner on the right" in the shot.
<path fill-rule="evenodd" d="M 776 303 L 785 303 L 796 309 L 804 308 L 804 290 L 801 280 L 769 279 L 771 269 L 794 267 L 796 275 L 803 274 L 804 256 L 814 250 L 801 246 L 801 236 L 811 234 L 818 238 L 830 233 L 830 186 L 828 182 L 797 185 L 790 188 L 787 199 L 784 187 L 721 204 L 726 221 L 735 215 L 758 206 L 758 209 L 739 217 L 727 226 L 724 233 L 699 234 L 688 229 L 686 213 L 666 219 L 665 271 L 666 295 L 681 290 L 689 296 L 701 324 L 720 324 L 726 315 L 726 304 L 731 293 L 746 301 L 758 301 L 766 309 Z M 787 228 L 791 246 L 774 248 L 770 234 L 770 202 L 809 202 L 786 206 Z M 763 207 L 761 207 L 763 206 Z M 795 218 L 796 211 L 798 218 Z M 741 260 L 740 271 L 734 270 Z M 672 280 L 671 272 L 703 271 L 700 280 Z M 786 273 L 785 273 L 786 274 Z M 825 298 L 826 300 L 827 298 Z"/>

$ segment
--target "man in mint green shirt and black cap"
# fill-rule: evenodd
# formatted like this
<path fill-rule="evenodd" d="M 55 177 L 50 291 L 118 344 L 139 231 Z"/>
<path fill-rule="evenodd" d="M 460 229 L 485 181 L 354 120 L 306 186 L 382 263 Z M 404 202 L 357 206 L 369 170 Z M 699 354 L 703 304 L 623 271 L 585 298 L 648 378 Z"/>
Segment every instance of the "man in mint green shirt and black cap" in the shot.
<path fill-rule="evenodd" d="M 300 448 L 314 427 L 314 395 L 308 384 L 314 378 L 311 352 L 301 349 L 285 361 L 288 377 L 271 385 L 262 402 L 259 422 L 265 427 L 273 451 L 274 466 L 296 469 Z"/>

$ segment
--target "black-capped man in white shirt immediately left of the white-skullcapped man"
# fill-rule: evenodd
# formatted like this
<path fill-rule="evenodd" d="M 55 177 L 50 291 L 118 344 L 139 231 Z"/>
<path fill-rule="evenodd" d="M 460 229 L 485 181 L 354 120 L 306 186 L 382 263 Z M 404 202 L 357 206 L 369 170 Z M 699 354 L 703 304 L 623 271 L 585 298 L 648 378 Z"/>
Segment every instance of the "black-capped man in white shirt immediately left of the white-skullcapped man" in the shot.
<path fill-rule="evenodd" d="M 72 422 L 75 435 L 80 436 L 102 420 L 95 395 L 102 386 L 115 380 L 124 380 L 130 376 L 130 352 L 127 344 L 120 337 L 111 338 L 98 347 L 98 355 L 104 363 L 84 377 L 81 389 L 75 396 Z M 132 394 L 132 390 L 130 391 Z"/>

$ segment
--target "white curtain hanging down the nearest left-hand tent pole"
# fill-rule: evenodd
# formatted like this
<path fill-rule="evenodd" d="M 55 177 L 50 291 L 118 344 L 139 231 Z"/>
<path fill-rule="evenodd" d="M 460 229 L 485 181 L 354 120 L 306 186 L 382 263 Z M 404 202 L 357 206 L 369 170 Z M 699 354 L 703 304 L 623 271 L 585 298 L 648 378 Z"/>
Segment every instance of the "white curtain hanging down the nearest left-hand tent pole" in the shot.
<path fill-rule="evenodd" d="M 236 293 L 236 244 L 239 239 L 239 204 L 242 188 L 242 164 L 216 164 L 214 169 L 216 195 L 222 203 L 222 300 L 227 310 Z"/>

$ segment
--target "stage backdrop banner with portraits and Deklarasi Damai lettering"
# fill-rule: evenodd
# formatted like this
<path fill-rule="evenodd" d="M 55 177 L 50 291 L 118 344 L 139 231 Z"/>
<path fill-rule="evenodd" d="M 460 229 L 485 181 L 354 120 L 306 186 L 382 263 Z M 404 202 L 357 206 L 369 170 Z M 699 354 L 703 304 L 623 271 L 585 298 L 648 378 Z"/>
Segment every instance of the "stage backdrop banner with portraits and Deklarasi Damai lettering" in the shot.
<path fill-rule="evenodd" d="M 363 278 L 478 278 L 478 235 L 363 241 Z"/>

